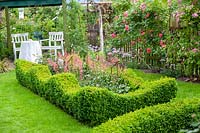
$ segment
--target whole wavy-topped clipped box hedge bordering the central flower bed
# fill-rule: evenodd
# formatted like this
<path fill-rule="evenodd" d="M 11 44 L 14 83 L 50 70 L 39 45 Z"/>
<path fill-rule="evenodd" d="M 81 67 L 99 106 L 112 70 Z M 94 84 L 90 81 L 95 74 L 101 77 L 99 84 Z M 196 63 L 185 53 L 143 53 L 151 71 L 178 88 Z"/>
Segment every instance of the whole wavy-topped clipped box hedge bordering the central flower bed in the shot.
<path fill-rule="evenodd" d="M 47 66 L 23 60 L 16 61 L 16 75 L 22 85 L 90 126 L 146 106 L 169 102 L 177 92 L 172 78 L 143 83 L 136 91 L 126 94 L 96 87 L 81 88 L 73 74 L 52 76 Z"/>

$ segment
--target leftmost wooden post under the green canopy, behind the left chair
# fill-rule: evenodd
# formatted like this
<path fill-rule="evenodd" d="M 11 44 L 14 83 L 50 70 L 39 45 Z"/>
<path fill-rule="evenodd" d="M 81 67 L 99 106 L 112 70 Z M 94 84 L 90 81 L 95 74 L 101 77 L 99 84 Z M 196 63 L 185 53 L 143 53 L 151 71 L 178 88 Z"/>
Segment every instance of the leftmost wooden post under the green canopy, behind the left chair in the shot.
<path fill-rule="evenodd" d="M 12 49 L 11 45 L 11 31 L 10 31 L 10 15 L 8 7 L 5 8 L 5 15 L 6 15 L 6 29 L 7 29 L 7 48 L 9 50 Z"/>

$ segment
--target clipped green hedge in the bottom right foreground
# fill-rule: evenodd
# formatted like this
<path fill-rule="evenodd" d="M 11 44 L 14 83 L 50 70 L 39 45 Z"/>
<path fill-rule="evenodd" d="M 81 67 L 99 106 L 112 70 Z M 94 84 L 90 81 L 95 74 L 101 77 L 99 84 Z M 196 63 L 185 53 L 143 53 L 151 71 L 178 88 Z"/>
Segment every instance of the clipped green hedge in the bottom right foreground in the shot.
<path fill-rule="evenodd" d="M 192 121 L 191 115 L 200 112 L 199 99 L 174 101 L 146 107 L 109 120 L 95 127 L 94 133 L 177 133 Z"/>

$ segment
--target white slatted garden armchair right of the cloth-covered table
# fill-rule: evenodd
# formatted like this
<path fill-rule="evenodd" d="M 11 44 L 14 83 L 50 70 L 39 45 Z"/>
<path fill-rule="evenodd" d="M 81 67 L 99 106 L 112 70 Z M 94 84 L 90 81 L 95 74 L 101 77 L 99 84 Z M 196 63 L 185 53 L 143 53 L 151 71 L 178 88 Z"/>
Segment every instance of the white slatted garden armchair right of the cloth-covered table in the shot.
<path fill-rule="evenodd" d="M 48 41 L 48 46 L 44 46 L 43 42 Z M 54 50 L 55 57 L 57 57 L 57 51 L 61 50 L 62 55 L 64 55 L 64 37 L 63 32 L 49 32 L 49 39 L 40 40 L 42 50 L 50 50 L 50 55 Z"/>

